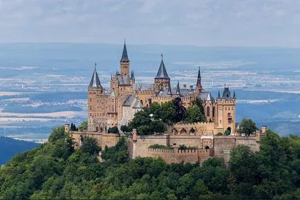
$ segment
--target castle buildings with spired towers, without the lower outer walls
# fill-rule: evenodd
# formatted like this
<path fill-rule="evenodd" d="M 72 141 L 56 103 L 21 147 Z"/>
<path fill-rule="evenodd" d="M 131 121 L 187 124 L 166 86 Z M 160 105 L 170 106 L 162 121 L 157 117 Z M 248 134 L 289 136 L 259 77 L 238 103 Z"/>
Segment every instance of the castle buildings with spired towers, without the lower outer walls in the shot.
<path fill-rule="evenodd" d="M 107 133 L 109 127 L 120 129 L 122 125 L 128 125 L 134 114 L 142 107 L 149 107 L 154 102 L 161 104 L 180 97 L 186 108 L 196 98 L 203 100 L 205 117 L 209 123 L 195 127 L 196 132 L 202 131 L 204 134 L 206 131 L 206 134 L 217 134 L 229 130 L 235 133 L 235 92 L 232 96 L 229 87 L 225 87 L 223 96 L 219 92 L 218 97 L 213 98 L 212 94 L 205 91 L 201 84 L 200 68 L 195 82 L 195 88 L 192 86 L 187 88 L 186 85 L 180 88 L 179 82 L 176 88 L 172 88 L 161 55 L 160 66 L 153 84 L 135 83 L 134 73 L 130 70 L 126 43 L 124 43 L 120 70 L 115 75 L 111 75 L 110 91 L 105 91 L 102 87 L 96 68 L 93 72 L 88 86 L 88 131 Z M 187 134 L 191 129 L 188 126 L 178 128 L 172 130 L 174 134 Z"/>

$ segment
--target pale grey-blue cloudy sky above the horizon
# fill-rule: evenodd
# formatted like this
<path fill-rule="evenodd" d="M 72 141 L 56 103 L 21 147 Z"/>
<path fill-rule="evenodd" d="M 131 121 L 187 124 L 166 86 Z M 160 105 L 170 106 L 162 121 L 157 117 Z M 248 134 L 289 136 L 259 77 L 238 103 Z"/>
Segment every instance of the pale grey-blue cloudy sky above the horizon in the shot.
<path fill-rule="evenodd" d="M 0 42 L 300 47 L 300 0 L 0 0 Z"/>

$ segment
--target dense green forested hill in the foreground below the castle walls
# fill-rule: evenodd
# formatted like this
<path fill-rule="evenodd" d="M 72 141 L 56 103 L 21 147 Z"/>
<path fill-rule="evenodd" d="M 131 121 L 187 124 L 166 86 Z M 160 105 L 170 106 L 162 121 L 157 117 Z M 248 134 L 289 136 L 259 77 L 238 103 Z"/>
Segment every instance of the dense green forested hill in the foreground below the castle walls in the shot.
<path fill-rule="evenodd" d="M 74 151 L 59 127 L 48 143 L 18 154 L 0 170 L 0 199 L 300 199 L 300 138 L 268 130 L 261 151 L 232 150 L 225 165 L 209 158 L 202 166 L 129 160 L 125 139 L 100 147 L 84 138 Z"/>

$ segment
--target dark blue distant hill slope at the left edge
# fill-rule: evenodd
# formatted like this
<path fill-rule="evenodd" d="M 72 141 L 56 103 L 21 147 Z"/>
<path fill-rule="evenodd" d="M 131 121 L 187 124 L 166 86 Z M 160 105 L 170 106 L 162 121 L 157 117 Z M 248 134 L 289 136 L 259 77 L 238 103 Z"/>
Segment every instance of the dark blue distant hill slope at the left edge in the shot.
<path fill-rule="evenodd" d="M 0 136 L 0 165 L 8 162 L 12 156 L 35 147 L 39 147 L 39 144 Z"/>

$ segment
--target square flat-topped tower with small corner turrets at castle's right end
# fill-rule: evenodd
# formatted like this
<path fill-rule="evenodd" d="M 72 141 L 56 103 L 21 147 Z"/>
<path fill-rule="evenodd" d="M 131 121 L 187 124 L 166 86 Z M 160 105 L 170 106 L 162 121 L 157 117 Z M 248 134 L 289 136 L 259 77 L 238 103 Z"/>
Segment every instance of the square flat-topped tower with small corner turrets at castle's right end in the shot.
<path fill-rule="evenodd" d="M 236 132 L 236 95 L 231 96 L 229 87 L 225 87 L 223 96 L 218 97 L 217 104 L 217 121 L 218 127 L 223 131 L 228 129 L 231 133 Z"/>

